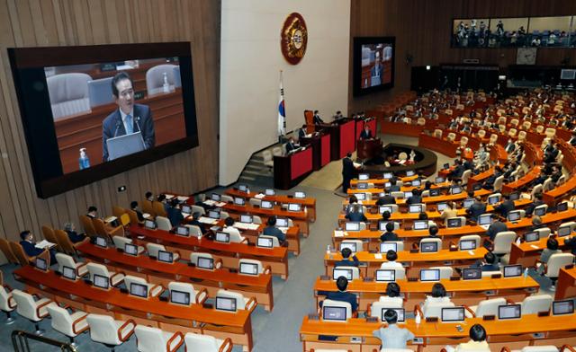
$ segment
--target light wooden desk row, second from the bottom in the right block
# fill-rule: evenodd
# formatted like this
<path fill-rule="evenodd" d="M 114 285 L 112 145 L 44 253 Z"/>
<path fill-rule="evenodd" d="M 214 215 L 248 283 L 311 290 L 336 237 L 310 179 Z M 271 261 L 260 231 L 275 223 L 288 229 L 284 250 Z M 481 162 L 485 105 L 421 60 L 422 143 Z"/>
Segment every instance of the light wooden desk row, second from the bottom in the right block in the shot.
<path fill-rule="evenodd" d="M 454 304 L 466 304 L 468 306 L 479 304 L 480 301 L 494 298 L 507 297 L 515 302 L 522 301 L 527 295 L 536 292 L 539 287 L 538 283 L 532 277 L 482 277 L 478 280 L 451 280 L 443 278 L 437 282 L 410 282 L 406 279 L 397 279 L 395 281 L 404 295 L 403 306 L 411 310 L 415 304 L 426 300 L 430 295 L 432 286 L 437 282 L 446 287 L 446 291 L 451 296 L 450 300 Z M 356 279 L 348 282 L 347 292 L 358 295 L 358 310 L 366 311 L 368 304 L 377 302 L 380 296 L 386 295 L 386 282 L 366 282 L 363 279 Z M 325 292 L 337 292 L 336 281 L 322 279 L 319 277 L 314 284 L 314 295 L 316 303 L 325 298 L 320 295 Z M 320 294 L 319 294 L 320 292 Z"/>

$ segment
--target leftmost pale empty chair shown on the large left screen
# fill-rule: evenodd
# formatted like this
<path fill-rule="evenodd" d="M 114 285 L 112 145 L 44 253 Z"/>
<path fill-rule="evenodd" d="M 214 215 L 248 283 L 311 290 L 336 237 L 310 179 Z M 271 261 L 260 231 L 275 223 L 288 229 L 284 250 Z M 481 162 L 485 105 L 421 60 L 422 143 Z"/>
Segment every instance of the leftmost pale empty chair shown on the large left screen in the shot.
<path fill-rule="evenodd" d="M 80 73 L 52 75 L 46 79 L 53 119 L 90 111 L 90 80 L 92 77 Z"/>

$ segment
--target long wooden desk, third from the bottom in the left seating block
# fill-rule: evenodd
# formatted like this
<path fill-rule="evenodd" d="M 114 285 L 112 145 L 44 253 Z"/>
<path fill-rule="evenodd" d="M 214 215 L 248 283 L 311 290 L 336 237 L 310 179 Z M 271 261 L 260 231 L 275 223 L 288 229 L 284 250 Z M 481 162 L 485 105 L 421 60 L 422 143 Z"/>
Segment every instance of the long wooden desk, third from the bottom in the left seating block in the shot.
<path fill-rule="evenodd" d="M 160 243 L 168 251 L 179 251 L 180 258 L 190 258 L 193 252 L 210 253 L 215 259 L 222 260 L 224 268 L 238 268 L 238 260 L 260 260 L 272 273 L 286 279 L 288 277 L 288 250 L 285 247 L 258 248 L 247 243 L 220 243 L 207 238 L 183 237 L 163 230 L 149 230 L 137 225 L 130 226 L 130 236 L 140 245 L 146 242 Z M 142 240 L 146 240 L 142 241 Z"/>

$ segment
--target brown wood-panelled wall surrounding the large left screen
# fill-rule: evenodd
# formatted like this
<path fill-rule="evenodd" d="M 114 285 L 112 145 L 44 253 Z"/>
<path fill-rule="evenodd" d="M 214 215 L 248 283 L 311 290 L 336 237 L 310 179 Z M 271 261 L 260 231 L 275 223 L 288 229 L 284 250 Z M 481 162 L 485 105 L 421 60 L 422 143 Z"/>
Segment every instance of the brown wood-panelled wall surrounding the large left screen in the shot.
<path fill-rule="evenodd" d="M 6 48 L 189 41 L 200 146 L 46 200 L 36 196 Z M 65 55 L 65 54 L 64 54 Z M 0 0 L 0 236 L 78 224 L 88 205 L 110 214 L 144 192 L 193 193 L 218 181 L 220 1 Z M 126 192 L 118 193 L 118 186 Z"/>

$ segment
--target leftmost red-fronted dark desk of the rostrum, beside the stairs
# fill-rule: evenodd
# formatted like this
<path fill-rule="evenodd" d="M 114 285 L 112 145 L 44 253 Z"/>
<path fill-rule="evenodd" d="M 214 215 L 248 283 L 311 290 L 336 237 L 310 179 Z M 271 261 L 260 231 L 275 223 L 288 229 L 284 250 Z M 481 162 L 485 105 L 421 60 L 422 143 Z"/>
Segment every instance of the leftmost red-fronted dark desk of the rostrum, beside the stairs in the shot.
<path fill-rule="evenodd" d="M 312 172 L 312 148 L 274 157 L 275 189 L 292 189 Z"/>

